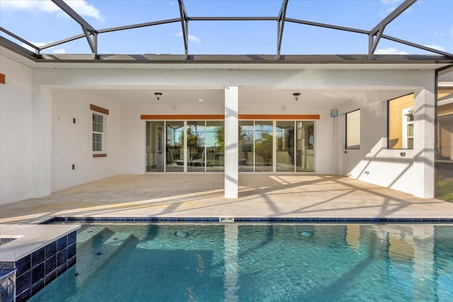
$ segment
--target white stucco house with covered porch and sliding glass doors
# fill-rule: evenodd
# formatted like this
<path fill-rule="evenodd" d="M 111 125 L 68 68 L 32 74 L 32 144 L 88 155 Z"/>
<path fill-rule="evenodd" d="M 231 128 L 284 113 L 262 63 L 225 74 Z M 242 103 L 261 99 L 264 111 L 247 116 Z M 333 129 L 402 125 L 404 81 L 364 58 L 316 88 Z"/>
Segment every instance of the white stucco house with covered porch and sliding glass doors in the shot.
<path fill-rule="evenodd" d="M 223 173 L 226 198 L 239 173 L 423 198 L 452 178 L 450 54 L 93 59 L 1 38 L 1 204 L 123 173 Z"/>

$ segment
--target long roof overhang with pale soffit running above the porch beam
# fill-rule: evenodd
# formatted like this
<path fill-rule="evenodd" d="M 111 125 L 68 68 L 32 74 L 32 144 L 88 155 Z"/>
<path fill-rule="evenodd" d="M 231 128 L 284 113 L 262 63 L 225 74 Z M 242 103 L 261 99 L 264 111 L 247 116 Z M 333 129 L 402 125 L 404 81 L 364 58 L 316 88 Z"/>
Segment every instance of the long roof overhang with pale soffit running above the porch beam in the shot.
<path fill-rule="evenodd" d="M 1 38 L 1 37 L 0 37 Z M 435 70 L 453 66 L 453 59 L 430 54 L 40 54 L 1 39 L 0 54 L 39 69 L 403 69 Z"/>

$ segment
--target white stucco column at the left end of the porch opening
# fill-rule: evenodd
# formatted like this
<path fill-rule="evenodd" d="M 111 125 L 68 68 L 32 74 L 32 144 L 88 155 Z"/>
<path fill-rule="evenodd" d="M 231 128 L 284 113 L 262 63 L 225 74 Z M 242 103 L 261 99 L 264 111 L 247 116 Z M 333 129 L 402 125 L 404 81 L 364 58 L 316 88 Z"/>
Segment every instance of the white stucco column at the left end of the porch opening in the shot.
<path fill-rule="evenodd" d="M 70 134 L 69 134 L 70 135 Z M 33 196 L 52 192 L 52 91 L 33 87 Z"/>

